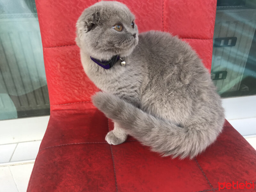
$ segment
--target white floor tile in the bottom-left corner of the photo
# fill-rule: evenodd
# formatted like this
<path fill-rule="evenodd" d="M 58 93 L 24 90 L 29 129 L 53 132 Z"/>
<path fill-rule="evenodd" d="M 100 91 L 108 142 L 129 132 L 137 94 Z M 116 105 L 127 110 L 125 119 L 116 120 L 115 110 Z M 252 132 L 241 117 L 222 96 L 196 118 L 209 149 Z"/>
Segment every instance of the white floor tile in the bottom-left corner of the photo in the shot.
<path fill-rule="evenodd" d="M 0 167 L 0 186 L 1 192 L 19 192 L 9 167 Z"/>

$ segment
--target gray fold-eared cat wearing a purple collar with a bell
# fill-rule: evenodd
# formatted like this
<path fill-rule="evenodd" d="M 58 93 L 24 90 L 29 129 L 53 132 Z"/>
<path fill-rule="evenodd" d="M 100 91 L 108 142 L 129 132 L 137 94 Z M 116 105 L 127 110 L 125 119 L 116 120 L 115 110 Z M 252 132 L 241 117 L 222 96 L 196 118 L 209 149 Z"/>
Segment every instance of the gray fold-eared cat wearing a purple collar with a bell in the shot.
<path fill-rule="evenodd" d="M 193 158 L 216 140 L 220 96 L 187 43 L 160 31 L 138 35 L 133 14 L 118 2 L 85 9 L 76 28 L 84 71 L 103 91 L 93 104 L 114 121 L 109 144 L 129 134 L 163 156 Z"/>

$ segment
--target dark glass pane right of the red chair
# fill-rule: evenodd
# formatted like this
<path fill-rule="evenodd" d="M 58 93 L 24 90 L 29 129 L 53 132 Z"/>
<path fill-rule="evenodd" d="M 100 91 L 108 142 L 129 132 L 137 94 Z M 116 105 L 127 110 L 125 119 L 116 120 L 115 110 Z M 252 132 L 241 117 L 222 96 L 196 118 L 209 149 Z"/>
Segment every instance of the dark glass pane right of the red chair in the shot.
<path fill-rule="evenodd" d="M 218 0 L 212 79 L 222 97 L 256 94 L 256 1 Z"/>

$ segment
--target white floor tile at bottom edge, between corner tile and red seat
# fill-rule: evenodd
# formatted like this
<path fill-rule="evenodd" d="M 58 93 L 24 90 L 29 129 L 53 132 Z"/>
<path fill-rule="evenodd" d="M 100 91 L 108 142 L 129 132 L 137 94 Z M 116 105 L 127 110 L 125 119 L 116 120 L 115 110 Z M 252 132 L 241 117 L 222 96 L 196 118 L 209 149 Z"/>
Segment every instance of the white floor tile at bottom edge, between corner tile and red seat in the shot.
<path fill-rule="evenodd" d="M 13 179 L 17 185 L 19 192 L 26 192 L 28 181 L 34 164 L 10 166 Z"/>

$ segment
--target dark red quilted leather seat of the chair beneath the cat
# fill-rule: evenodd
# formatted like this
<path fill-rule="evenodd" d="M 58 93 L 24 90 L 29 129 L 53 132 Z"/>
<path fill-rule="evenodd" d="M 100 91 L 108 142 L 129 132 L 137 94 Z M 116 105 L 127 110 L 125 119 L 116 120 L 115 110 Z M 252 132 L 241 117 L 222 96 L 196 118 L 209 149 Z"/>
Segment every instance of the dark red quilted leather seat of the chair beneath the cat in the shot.
<path fill-rule="evenodd" d="M 193 160 L 161 157 L 132 137 L 109 145 L 105 136 L 112 129 L 91 102 L 52 110 L 28 192 L 202 192 L 218 190 L 218 182 L 255 181 L 256 151 L 227 121 Z"/>

